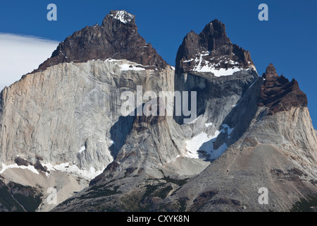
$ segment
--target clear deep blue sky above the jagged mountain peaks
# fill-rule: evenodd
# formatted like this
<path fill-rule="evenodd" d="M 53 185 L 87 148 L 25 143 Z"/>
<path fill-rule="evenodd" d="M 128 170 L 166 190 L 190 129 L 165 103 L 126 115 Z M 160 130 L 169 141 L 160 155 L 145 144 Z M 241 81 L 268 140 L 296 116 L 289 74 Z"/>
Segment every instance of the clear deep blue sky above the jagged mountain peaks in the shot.
<path fill-rule="evenodd" d="M 57 6 L 57 21 L 46 19 L 46 6 L 51 3 Z M 268 21 L 258 19 L 262 3 L 268 5 Z M 101 24 L 109 11 L 122 9 L 135 14 L 140 35 L 171 65 L 187 32 L 199 33 L 215 18 L 222 21 L 230 40 L 249 50 L 259 75 L 273 63 L 279 74 L 299 81 L 317 128 L 317 2 L 313 0 L 2 1 L 0 32 L 61 42 L 86 25 Z M 46 54 L 45 59 L 50 57 Z"/>

